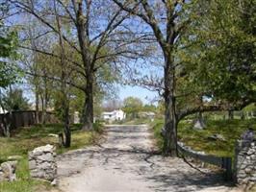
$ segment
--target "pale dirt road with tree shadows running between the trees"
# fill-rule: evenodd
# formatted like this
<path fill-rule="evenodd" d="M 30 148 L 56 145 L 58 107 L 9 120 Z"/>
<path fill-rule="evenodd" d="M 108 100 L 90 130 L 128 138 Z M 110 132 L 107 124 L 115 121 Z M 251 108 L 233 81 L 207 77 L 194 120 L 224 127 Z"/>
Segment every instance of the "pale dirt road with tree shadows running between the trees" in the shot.
<path fill-rule="evenodd" d="M 101 146 L 73 151 L 58 158 L 64 192 L 238 191 L 216 174 L 201 174 L 180 158 L 152 154 L 146 126 L 113 126 Z"/>

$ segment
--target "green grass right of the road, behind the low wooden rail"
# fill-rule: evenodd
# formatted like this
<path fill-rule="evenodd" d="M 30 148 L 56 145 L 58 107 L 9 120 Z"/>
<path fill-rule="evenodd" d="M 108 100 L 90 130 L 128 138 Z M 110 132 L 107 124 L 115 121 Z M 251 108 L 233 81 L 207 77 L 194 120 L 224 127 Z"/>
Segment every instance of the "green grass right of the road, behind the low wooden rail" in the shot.
<path fill-rule="evenodd" d="M 256 119 L 208 120 L 206 124 L 207 128 L 205 130 L 193 130 L 192 124 L 186 121 L 180 122 L 178 139 L 196 151 L 204 151 L 215 156 L 233 156 L 236 140 L 247 130 L 248 126 L 251 126 L 256 131 Z M 163 125 L 163 120 L 158 120 L 153 126 L 157 145 L 160 149 L 163 147 L 163 137 L 161 136 Z M 208 136 L 214 133 L 222 134 L 225 141 L 209 140 Z"/>

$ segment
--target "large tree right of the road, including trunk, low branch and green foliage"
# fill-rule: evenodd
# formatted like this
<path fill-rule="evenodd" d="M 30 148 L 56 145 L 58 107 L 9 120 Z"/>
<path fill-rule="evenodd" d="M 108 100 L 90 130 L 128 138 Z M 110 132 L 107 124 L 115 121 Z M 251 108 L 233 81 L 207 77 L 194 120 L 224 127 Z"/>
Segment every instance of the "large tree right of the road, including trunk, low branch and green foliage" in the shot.
<path fill-rule="evenodd" d="M 184 117 L 255 101 L 255 35 L 242 30 L 255 21 L 251 0 L 114 1 L 141 19 L 145 32 L 151 29 L 161 50 L 163 80 L 147 84 L 163 93 L 166 155 L 177 156 L 177 127 Z M 251 5 L 241 12 L 238 4 L 245 1 Z"/>

